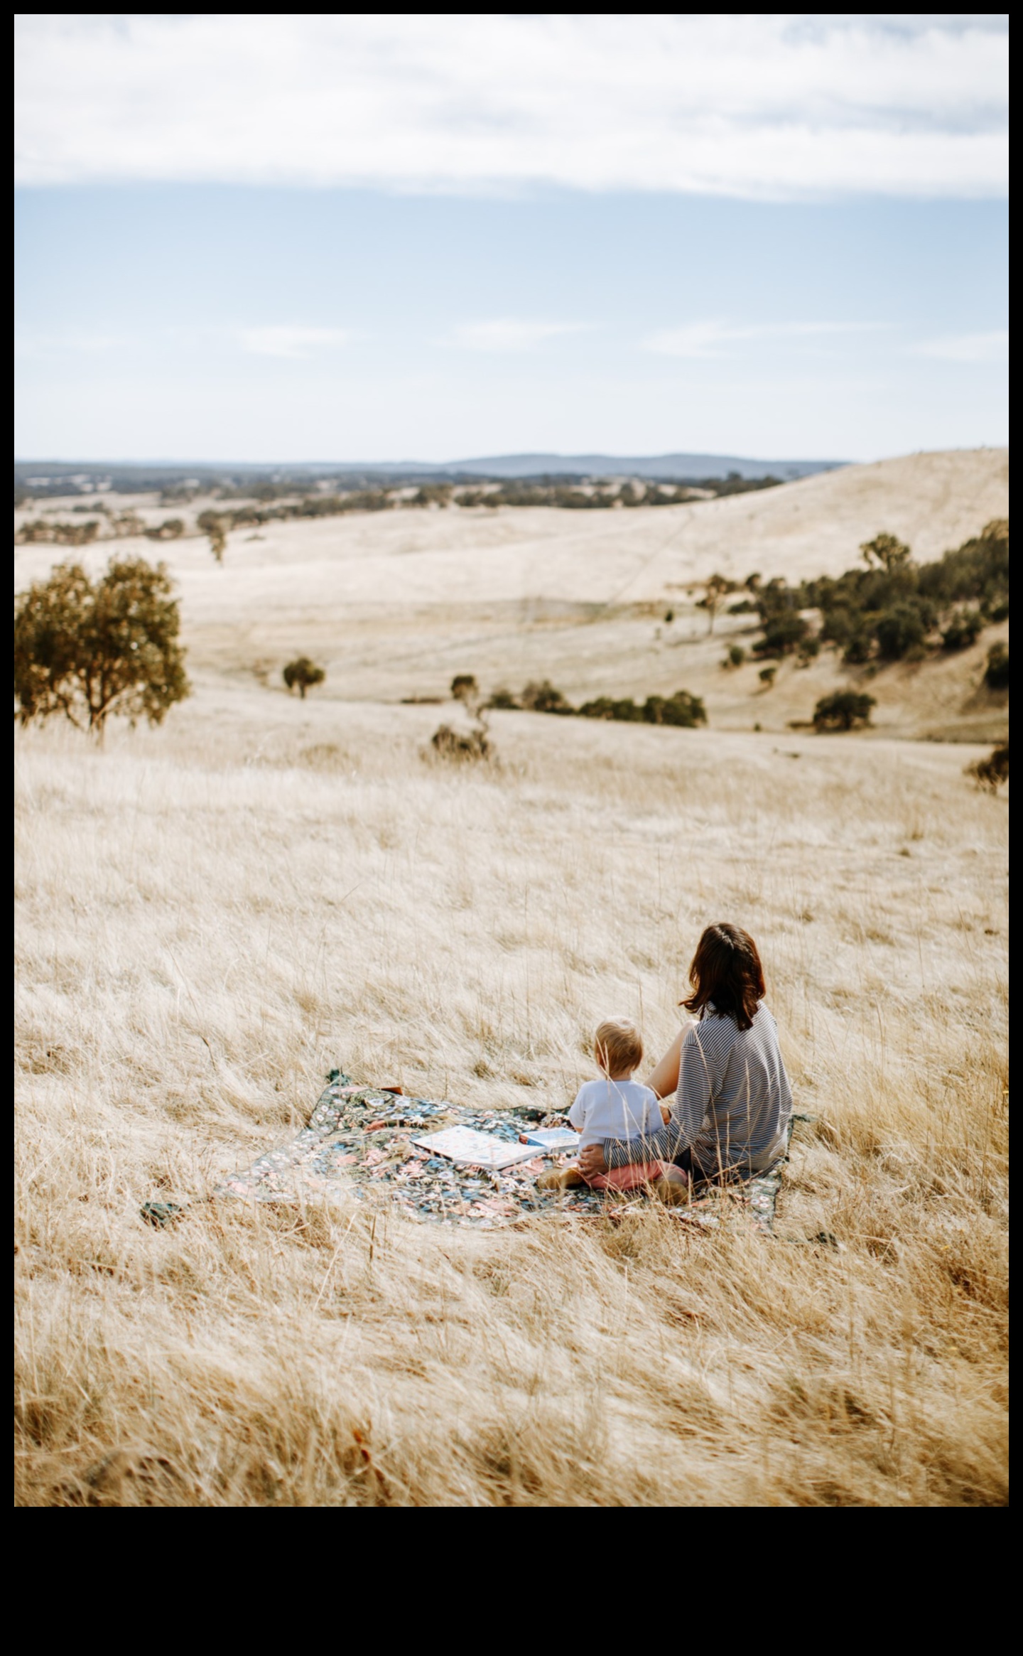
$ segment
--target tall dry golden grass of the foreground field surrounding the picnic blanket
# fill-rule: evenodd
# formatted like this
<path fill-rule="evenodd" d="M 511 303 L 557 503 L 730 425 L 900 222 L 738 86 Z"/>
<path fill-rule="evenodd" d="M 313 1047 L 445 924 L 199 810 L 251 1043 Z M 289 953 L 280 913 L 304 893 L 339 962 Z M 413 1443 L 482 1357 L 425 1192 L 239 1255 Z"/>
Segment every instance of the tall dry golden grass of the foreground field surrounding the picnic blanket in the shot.
<path fill-rule="evenodd" d="M 429 710 L 263 705 L 18 737 L 18 1502 L 1003 1502 L 1006 805 L 963 750 L 508 715 L 452 773 Z M 199 1201 L 333 1063 L 556 1106 L 601 1017 L 652 1057 L 720 917 L 816 1116 L 775 1239 Z"/>

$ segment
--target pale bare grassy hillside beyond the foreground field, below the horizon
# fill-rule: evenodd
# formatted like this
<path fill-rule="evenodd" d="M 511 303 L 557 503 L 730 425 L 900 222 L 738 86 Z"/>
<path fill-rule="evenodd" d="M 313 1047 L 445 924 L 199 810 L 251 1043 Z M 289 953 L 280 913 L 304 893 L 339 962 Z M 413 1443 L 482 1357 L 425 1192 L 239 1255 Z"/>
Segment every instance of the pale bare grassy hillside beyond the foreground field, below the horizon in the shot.
<path fill-rule="evenodd" d="M 444 694 L 455 672 L 515 689 L 550 677 L 573 700 L 684 687 L 705 699 L 713 727 L 783 732 L 852 684 L 877 697 L 886 735 L 993 742 L 1005 697 L 978 686 L 1005 628 L 962 656 L 887 669 L 869 684 L 826 652 L 806 671 L 785 664 L 765 694 L 758 664 L 720 671 L 725 644 L 748 646 L 755 634 L 750 618 L 720 616 L 708 638 L 694 583 L 713 570 L 839 573 L 879 528 L 937 556 L 1008 512 L 1006 477 L 1003 450 L 924 454 L 694 507 L 386 512 L 238 530 L 222 568 L 204 538 L 159 555 L 180 586 L 190 667 L 210 686 L 268 674 L 280 691 L 283 662 L 305 651 L 328 671 L 318 696 L 343 702 Z M 149 542 L 119 546 L 154 556 Z M 79 556 L 101 566 L 109 551 L 104 543 Z M 17 586 L 66 556 L 17 548 Z"/>

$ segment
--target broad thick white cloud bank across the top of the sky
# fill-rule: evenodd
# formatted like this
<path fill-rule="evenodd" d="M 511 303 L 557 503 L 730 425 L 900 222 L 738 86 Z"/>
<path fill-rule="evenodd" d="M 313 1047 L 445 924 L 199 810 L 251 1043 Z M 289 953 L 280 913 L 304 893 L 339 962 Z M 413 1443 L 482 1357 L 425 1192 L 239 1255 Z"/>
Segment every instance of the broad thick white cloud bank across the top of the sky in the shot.
<path fill-rule="evenodd" d="M 1005 192 L 983 15 L 28 13 L 22 184 Z"/>

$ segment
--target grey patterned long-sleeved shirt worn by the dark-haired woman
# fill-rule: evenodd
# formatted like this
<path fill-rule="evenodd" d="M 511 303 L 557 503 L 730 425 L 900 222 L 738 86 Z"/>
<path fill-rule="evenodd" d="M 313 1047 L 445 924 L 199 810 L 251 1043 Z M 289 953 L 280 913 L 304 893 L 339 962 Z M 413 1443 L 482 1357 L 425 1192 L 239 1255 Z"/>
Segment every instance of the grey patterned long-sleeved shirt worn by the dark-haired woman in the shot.
<path fill-rule="evenodd" d="M 609 1139 L 609 1167 L 675 1161 L 690 1149 L 708 1172 L 763 1172 L 785 1153 L 793 1095 L 778 1050 L 778 1025 L 765 1007 L 740 1030 L 708 1002 L 682 1042 L 670 1121 L 639 1139 Z"/>

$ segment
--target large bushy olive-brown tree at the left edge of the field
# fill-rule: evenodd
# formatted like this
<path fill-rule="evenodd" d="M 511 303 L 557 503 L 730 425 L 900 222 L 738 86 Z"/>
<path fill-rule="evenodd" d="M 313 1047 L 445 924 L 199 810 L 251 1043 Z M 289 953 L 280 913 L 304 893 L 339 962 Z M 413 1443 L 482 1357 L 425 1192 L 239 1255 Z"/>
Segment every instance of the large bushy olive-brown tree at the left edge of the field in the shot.
<path fill-rule="evenodd" d="M 179 626 L 162 563 L 111 560 L 94 585 L 58 565 L 15 604 L 18 719 L 63 714 L 98 740 L 111 714 L 161 724 L 189 694 Z"/>

